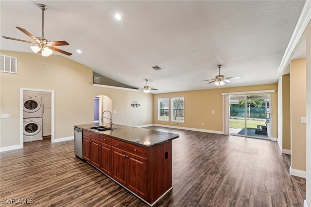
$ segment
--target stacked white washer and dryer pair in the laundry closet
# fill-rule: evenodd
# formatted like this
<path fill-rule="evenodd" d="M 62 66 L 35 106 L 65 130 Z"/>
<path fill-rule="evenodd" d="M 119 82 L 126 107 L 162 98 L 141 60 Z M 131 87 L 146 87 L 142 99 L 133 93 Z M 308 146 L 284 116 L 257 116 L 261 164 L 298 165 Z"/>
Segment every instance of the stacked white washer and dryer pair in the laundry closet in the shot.
<path fill-rule="evenodd" d="M 42 93 L 24 91 L 24 142 L 42 140 Z"/>

